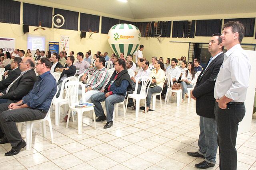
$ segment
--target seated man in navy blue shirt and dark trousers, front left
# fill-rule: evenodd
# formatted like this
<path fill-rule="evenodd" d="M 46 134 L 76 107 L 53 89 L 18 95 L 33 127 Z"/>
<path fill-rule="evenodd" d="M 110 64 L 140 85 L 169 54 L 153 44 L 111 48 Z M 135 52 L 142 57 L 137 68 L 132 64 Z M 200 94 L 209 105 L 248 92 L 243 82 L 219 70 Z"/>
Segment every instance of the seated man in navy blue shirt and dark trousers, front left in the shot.
<path fill-rule="evenodd" d="M 32 90 L 19 102 L 0 104 L 0 144 L 10 143 L 12 146 L 5 156 L 16 155 L 26 146 L 16 122 L 43 119 L 50 109 L 57 92 L 56 80 L 50 73 L 51 66 L 48 58 L 39 59 L 36 63 L 39 78 Z"/>

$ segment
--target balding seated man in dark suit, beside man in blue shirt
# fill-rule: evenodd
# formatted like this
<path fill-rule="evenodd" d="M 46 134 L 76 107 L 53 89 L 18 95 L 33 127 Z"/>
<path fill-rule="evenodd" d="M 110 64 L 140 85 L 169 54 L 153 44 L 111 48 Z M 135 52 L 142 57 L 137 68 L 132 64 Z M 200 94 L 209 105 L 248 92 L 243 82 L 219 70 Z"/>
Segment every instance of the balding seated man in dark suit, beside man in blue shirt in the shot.
<path fill-rule="evenodd" d="M 13 65 L 14 63 L 12 63 Z M 0 103 L 12 103 L 22 99 L 33 88 L 37 80 L 34 71 L 35 62 L 30 57 L 25 57 L 20 62 L 20 76 L 0 93 Z"/>

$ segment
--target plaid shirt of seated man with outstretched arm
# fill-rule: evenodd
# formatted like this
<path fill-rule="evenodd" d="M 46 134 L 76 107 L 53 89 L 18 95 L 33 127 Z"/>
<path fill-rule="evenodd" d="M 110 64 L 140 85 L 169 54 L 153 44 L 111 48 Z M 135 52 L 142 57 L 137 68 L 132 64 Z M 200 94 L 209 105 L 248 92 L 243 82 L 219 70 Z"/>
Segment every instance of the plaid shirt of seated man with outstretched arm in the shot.
<path fill-rule="evenodd" d="M 87 75 L 92 73 L 88 84 L 93 90 L 101 90 L 108 81 L 108 72 L 105 67 L 101 68 L 100 70 L 96 67 L 88 68 L 84 71 L 84 73 Z"/>

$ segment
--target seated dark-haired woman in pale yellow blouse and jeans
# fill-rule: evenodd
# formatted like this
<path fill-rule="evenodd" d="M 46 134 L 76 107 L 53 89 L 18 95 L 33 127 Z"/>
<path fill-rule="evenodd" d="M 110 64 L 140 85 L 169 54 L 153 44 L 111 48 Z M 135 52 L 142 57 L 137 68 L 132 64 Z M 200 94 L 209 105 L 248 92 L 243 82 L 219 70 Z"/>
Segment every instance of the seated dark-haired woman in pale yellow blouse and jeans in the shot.
<path fill-rule="evenodd" d="M 154 68 L 156 69 L 152 70 L 150 77 L 152 77 L 152 83 L 156 83 L 156 85 L 148 89 L 148 96 L 146 98 L 147 112 L 150 108 L 150 100 L 151 100 L 152 94 L 160 93 L 164 86 L 164 78 L 165 78 L 164 64 L 160 60 L 157 60 L 154 64 Z"/>

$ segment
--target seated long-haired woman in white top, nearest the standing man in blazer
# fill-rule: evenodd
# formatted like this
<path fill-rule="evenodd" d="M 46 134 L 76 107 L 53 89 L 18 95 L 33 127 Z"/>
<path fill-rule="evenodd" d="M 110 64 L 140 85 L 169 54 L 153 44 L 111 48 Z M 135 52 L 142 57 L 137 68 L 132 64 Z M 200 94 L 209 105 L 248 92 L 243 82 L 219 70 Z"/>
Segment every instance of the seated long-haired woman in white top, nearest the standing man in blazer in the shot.
<path fill-rule="evenodd" d="M 189 62 L 188 63 L 188 70 L 182 74 L 181 77 L 181 85 L 182 85 L 182 102 L 184 99 L 184 96 L 186 95 L 186 98 L 188 98 L 188 88 L 192 88 L 194 86 L 194 83 L 196 82 L 196 72 L 194 70 L 194 63 Z"/>

